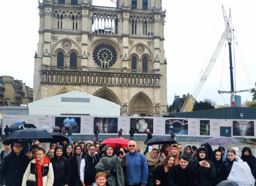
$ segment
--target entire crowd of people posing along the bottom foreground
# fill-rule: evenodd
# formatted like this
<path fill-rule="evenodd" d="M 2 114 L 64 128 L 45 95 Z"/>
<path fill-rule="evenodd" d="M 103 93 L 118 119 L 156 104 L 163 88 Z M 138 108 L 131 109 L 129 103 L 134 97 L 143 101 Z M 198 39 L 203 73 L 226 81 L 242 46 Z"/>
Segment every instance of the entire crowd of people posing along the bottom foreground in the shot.
<path fill-rule="evenodd" d="M 35 140 L 26 154 L 20 141 L 11 146 L 6 139 L 3 145 L 0 186 L 216 186 L 228 179 L 234 161 L 247 162 L 246 174 L 256 177 L 249 147 L 240 157 L 237 147 L 213 151 L 208 143 L 199 148 L 166 143 L 145 156 L 133 140 L 128 148 L 96 140 L 52 142 L 47 153 Z"/>

